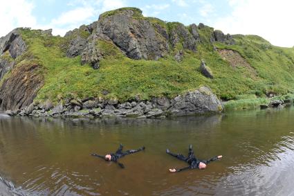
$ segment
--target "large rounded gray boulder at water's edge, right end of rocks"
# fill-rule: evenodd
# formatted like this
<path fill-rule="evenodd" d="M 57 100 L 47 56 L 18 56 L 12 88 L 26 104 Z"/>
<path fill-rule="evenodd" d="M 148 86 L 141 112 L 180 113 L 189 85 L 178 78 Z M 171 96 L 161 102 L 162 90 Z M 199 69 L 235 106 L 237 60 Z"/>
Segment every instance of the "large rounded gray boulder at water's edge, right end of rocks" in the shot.
<path fill-rule="evenodd" d="M 221 112 L 222 109 L 223 106 L 217 96 L 208 87 L 201 87 L 199 90 L 174 98 L 168 112 L 174 116 L 186 116 Z"/>

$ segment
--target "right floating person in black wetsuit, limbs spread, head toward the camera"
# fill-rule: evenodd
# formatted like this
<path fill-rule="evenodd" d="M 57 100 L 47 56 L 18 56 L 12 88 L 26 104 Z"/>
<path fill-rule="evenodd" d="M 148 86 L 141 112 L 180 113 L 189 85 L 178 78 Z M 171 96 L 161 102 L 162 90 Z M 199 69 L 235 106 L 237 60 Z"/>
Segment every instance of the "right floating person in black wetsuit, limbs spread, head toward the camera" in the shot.
<path fill-rule="evenodd" d="M 186 167 L 186 168 L 181 168 L 181 169 L 169 169 L 170 172 L 181 172 L 183 170 L 187 170 L 187 169 L 205 169 L 206 168 L 206 164 L 210 163 L 211 161 L 216 161 L 217 159 L 221 159 L 221 155 L 217 156 L 217 157 L 213 157 L 207 161 L 204 160 L 199 160 L 194 156 L 194 152 L 192 150 L 192 145 L 190 145 L 189 147 L 189 154 L 188 157 L 184 157 L 183 154 L 174 154 L 172 152 L 169 152 L 169 150 L 167 149 L 167 154 L 172 155 L 172 157 L 176 157 L 178 159 L 180 159 L 181 161 L 185 161 L 187 162 L 190 166 Z"/>

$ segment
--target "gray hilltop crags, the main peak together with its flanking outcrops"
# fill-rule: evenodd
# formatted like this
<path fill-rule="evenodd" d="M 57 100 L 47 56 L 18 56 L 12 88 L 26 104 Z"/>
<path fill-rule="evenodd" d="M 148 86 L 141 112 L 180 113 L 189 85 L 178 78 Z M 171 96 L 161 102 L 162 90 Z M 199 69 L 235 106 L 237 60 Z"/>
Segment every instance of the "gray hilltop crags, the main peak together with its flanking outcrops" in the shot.
<path fill-rule="evenodd" d="M 158 60 L 165 57 L 172 47 L 181 44 L 184 49 L 196 51 L 199 33 L 192 24 L 190 28 L 180 23 L 172 23 L 168 29 L 165 22 L 157 19 L 151 22 L 143 17 L 142 11 L 137 8 L 119 9 L 100 15 L 99 20 L 86 30 L 89 37 L 75 36 L 71 40 L 66 55 L 75 57 L 82 55 L 82 64 L 89 63 L 94 69 L 100 66 L 100 60 L 107 55 L 104 48 L 99 47 L 99 40 L 109 42 L 127 57 L 134 60 Z M 66 33 L 71 37 L 77 30 Z M 183 58 L 183 51 L 178 51 L 175 59 L 179 62 Z"/>

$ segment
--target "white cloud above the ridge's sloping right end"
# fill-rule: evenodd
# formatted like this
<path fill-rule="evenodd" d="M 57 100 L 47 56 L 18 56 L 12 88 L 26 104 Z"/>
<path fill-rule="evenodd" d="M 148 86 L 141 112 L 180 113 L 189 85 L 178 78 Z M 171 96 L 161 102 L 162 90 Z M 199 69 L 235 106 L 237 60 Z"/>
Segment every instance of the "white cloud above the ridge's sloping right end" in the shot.
<path fill-rule="evenodd" d="M 293 0 L 228 0 L 232 12 L 212 26 L 230 34 L 254 34 L 277 46 L 294 46 Z"/>

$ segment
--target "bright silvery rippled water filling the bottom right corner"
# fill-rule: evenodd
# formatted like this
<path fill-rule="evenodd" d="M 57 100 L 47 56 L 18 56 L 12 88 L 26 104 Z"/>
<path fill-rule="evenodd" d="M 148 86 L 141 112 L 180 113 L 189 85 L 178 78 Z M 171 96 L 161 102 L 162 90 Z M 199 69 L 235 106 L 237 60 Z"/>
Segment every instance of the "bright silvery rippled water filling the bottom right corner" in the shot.
<path fill-rule="evenodd" d="M 271 152 L 259 153 L 248 165 L 230 168 L 216 195 L 294 195 L 293 141 L 293 136 L 283 136 Z"/>

